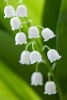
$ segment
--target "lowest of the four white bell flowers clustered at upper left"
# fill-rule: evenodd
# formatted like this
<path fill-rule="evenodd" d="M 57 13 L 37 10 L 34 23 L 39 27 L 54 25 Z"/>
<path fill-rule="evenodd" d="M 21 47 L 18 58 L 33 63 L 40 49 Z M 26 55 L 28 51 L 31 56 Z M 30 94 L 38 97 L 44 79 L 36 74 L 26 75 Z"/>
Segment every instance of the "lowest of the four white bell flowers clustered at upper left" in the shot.
<path fill-rule="evenodd" d="M 19 32 L 16 34 L 15 36 L 15 44 L 16 45 L 21 45 L 21 44 L 26 44 L 27 41 L 26 41 L 26 35 L 23 33 L 23 32 Z"/>

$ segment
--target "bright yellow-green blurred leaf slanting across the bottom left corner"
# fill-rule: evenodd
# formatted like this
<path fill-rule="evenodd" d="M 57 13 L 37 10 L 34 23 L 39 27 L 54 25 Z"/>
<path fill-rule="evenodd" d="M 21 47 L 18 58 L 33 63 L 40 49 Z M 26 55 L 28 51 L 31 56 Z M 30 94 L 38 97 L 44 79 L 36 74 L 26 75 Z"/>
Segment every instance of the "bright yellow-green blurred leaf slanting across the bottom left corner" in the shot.
<path fill-rule="evenodd" d="M 1 100 L 41 100 L 35 92 L 0 61 Z"/>

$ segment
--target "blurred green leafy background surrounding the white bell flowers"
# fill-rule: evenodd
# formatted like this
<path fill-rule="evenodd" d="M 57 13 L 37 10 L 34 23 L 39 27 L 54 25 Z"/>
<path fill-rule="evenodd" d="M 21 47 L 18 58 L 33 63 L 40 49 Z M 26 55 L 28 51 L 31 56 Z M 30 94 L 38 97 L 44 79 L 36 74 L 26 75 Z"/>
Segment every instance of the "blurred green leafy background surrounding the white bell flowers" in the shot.
<path fill-rule="evenodd" d="M 9 0 L 9 4 L 16 9 L 18 1 Z M 23 0 L 23 4 L 27 6 L 28 18 L 34 25 L 49 27 L 57 35 L 45 44 L 62 55 L 53 72 L 58 92 L 51 96 L 44 95 L 48 69 L 43 64 L 40 64 L 39 71 L 43 74 L 44 85 L 30 85 L 35 64 L 19 64 L 25 45 L 15 46 L 14 37 L 18 31 L 13 32 L 10 19 L 4 19 L 6 3 L 0 0 L 0 100 L 67 100 L 67 0 Z M 28 27 L 24 25 L 22 31 L 27 34 Z M 44 45 L 42 38 L 38 43 Z"/>

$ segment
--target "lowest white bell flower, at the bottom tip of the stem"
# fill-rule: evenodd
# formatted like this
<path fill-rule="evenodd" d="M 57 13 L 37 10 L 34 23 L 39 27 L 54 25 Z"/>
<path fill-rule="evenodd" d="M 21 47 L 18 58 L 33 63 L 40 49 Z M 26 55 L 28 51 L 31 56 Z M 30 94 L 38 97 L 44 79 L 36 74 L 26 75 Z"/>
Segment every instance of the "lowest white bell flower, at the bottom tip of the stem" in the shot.
<path fill-rule="evenodd" d="M 44 94 L 52 95 L 52 94 L 56 94 L 56 92 L 57 90 L 56 90 L 55 83 L 53 81 L 46 82 Z"/>

